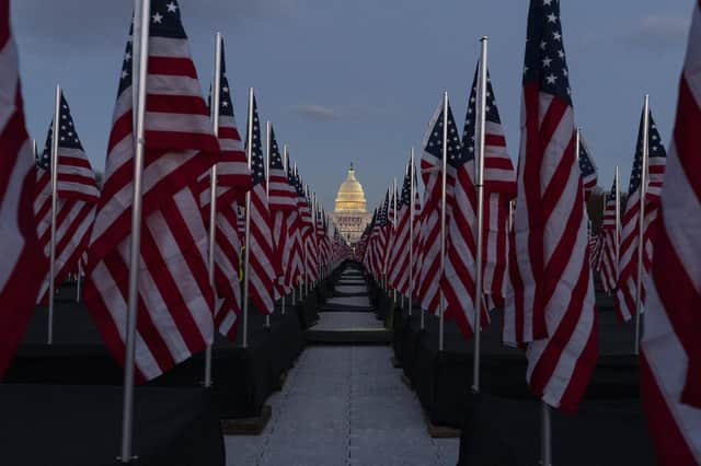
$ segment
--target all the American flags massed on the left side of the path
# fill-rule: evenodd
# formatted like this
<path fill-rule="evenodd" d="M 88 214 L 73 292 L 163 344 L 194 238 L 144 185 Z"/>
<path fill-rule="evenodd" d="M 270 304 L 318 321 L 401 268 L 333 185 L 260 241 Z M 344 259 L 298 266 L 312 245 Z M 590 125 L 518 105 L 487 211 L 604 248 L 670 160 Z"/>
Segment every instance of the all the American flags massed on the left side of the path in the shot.
<path fill-rule="evenodd" d="M 51 121 L 46 145 L 41 152 L 34 150 L 35 163 L 31 163 L 33 150 L 23 119 L 9 2 L 3 0 L 0 5 L 0 37 L 4 38 L 0 58 L 8 65 L 0 80 L 4 115 L 0 163 L 7 164 L 2 173 L 12 175 L 2 185 L 7 232 L 2 247 L 3 252 L 8 248 L 10 260 L 2 272 L 1 294 L 12 305 L 0 313 L 0 374 L 34 305 L 48 301 L 53 225 L 54 282 L 60 286 L 69 273 L 84 270 L 85 304 L 114 358 L 124 363 L 136 153 L 134 26 L 122 63 L 104 182 L 99 187 L 60 90 L 58 120 Z M 343 238 L 331 233 L 321 207 L 310 202 L 315 196 L 304 187 L 287 151 L 280 154 L 272 126 L 266 135 L 266 165 L 253 91 L 249 142 L 244 144 L 223 44 L 218 55 L 218 95 L 210 91 L 208 103 L 177 2 L 152 0 L 149 20 L 142 223 L 136 265 L 138 382 L 157 377 L 203 351 L 214 341 L 216 330 L 234 339 L 244 298 L 258 312 L 271 314 L 277 299 L 301 283 L 317 282 L 350 254 Z M 58 148 L 55 161 L 54 143 Z M 216 209 L 210 218 L 212 201 Z M 211 269 L 209 233 L 214 237 Z M 241 267 L 244 255 L 249 260 L 245 269 Z M 242 293 L 244 273 L 249 286 Z"/>

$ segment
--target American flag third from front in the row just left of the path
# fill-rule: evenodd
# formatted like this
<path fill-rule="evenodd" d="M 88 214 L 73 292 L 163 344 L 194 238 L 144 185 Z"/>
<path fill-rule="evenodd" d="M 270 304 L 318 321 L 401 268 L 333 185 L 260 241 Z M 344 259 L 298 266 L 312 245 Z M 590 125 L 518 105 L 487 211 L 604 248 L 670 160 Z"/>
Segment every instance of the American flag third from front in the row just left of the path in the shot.
<path fill-rule="evenodd" d="M 249 211 L 249 276 L 245 278 L 251 290 L 251 300 L 255 308 L 264 314 L 272 314 L 275 307 L 275 283 L 280 276 L 279 257 L 273 242 L 273 220 L 267 200 L 265 184 L 265 161 L 261 148 L 261 123 L 258 107 L 253 96 L 253 121 L 249 121 L 248 141 L 251 144 L 251 188 Z"/>

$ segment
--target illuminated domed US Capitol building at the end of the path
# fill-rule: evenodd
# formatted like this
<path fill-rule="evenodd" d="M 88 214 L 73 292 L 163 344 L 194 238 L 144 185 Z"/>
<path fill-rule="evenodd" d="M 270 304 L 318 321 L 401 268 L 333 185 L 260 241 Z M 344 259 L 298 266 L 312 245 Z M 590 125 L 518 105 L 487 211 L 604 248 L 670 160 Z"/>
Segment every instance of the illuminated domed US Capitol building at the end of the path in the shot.
<path fill-rule="evenodd" d="M 367 201 L 363 185 L 355 177 L 353 164 L 348 168 L 346 180 L 341 184 L 333 211 L 333 221 L 348 244 L 354 244 L 365 231 L 372 215 L 367 211 Z"/>

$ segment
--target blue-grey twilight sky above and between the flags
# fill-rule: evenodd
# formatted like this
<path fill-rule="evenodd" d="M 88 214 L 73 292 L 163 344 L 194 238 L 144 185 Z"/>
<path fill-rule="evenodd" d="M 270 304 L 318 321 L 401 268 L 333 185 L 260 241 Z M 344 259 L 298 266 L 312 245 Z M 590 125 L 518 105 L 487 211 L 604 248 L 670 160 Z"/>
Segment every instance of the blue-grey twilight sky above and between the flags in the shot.
<path fill-rule="evenodd" d="M 622 186 L 642 96 L 669 140 L 691 0 L 563 0 L 564 45 L 577 125 L 599 185 L 616 165 Z M 261 118 L 275 125 L 326 208 L 354 162 L 371 206 L 401 178 L 444 90 L 462 127 L 479 43 L 516 161 L 526 0 L 180 0 L 202 80 L 211 79 L 214 34 L 225 35 L 241 131 L 254 86 Z M 93 166 L 104 167 L 133 1 L 14 0 L 30 131 L 41 145 L 54 86 L 65 89 Z M 667 145 L 667 144 L 666 144 Z M 418 154 L 418 152 L 417 152 Z M 401 183 L 401 179 L 400 179 Z"/>

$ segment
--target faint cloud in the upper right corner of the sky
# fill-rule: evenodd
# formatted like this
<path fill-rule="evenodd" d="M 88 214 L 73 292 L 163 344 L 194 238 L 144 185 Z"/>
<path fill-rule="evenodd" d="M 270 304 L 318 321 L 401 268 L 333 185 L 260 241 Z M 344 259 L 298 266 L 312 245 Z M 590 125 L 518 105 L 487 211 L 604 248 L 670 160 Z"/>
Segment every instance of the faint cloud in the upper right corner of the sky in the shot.
<path fill-rule="evenodd" d="M 623 37 L 628 45 L 657 51 L 683 45 L 689 32 L 689 19 L 648 15 L 642 18 L 633 31 Z"/>

